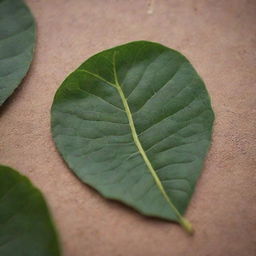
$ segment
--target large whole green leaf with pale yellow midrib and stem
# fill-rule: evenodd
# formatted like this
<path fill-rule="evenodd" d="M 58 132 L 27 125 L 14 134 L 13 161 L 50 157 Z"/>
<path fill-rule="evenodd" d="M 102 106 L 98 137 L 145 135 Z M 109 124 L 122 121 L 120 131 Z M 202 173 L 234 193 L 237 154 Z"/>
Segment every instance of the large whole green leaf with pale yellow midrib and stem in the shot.
<path fill-rule="evenodd" d="M 69 167 L 103 196 L 179 222 L 210 145 L 214 114 L 189 61 L 138 41 L 85 61 L 58 89 L 52 133 Z"/>

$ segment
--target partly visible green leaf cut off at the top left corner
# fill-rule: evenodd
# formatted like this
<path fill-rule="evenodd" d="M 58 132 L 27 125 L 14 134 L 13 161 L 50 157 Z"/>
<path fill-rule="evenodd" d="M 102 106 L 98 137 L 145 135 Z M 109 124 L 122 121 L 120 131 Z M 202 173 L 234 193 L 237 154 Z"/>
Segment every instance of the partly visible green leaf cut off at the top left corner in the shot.
<path fill-rule="evenodd" d="M 26 75 L 35 47 L 35 23 L 22 0 L 0 0 L 0 105 Z"/>

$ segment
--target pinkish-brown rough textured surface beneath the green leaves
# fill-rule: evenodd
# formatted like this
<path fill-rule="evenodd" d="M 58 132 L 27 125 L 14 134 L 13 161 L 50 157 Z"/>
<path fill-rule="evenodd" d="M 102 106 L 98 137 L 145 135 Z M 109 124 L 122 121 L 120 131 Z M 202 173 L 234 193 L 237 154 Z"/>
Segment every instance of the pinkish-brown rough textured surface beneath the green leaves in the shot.
<path fill-rule="evenodd" d="M 27 0 L 37 20 L 35 59 L 0 111 L 0 162 L 48 198 L 64 256 L 256 254 L 256 1 Z M 50 134 L 64 78 L 89 56 L 134 40 L 185 54 L 216 113 L 213 145 L 187 211 L 196 233 L 101 198 L 68 170 Z"/>

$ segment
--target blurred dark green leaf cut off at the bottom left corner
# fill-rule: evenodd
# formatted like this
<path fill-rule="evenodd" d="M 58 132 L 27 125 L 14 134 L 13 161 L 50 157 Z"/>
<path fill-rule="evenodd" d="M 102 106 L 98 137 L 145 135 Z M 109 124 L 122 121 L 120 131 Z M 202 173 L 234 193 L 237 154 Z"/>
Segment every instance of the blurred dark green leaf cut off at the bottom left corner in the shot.
<path fill-rule="evenodd" d="M 58 239 L 41 192 L 0 165 L 0 255 L 57 256 Z"/>

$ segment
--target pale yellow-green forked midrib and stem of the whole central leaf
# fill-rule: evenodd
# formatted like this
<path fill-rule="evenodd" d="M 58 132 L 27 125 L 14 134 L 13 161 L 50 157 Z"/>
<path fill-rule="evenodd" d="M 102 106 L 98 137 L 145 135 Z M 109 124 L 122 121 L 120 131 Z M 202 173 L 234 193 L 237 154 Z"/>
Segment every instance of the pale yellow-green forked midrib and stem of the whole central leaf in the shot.
<path fill-rule="evenodd" d="M 80 69 L 80 71 L 86 72 L 86 73 L 94 76 L 95 78 L 97 78 L 99 80 L 102 80 L 103 82 L 105 82 L 108 85 L 110 85 L 112 87 L 115 87 L 117 89 L 117 91 L 118 91 L 118 93 L 119 93 L 119 95 L 120 95 L 120 97 L 122 99 L 122 103 L 124 105 L 125 112 L 127 114 L 127 118 L 128 118 L 128 122 L 129 122 L 129 126 L 130 126 L 130 129 L 131 129 L 131 133 L 132 133 L 132 137 L 133 137 L 134 143 L 137 146 L 137 148 L 138 148 L 138 150 L 139 150 L 143 160 L 145 161 L 145 164 L 148 167 L 149 172 L 151 173 L 151 175 L 152 175 L 152 177 L 153 177 L 157 187 L 161 191 L 163 197 L 165 198 L 165 200 L 169 204 L 170 208 L 176 214 L 176 216 L 178 218 L 178 222 L 182 225 L 182 227 L 186 231 L 188 231 L 189 233 L 193 233 L 192 225 L 190 224 L 190 222 L 188 220 L 186 220 L 184 217 L 181 216 L 181 214 L 178 211 L 178 209 L 172 203 L 170 197 L 167 195 L 167 193 L 166 193 L 166 191 L 165 191 L 165 189 L 163 187 L 163 184 L 162 184 L 161 180 L 157 176 L 155 169 L 153 168 L 150 160 L 147 157 L 147 154 L 146 154 L 145 150 L 143 149 L 143 147 L 142 147 L 142 145 L 140 143 L 140 140 L 139 140 L 139 137 L 138 137 L 138 134 L 137 134 L 134 122 L 133 122 L 132 113 L 131 113 L 129 104 L 128 104 L 127 100 L 126 100 L 126 97 L 125 97 L 125 95 L 123 93 L 122 87 L 119 84 L 119 81 L 118 81 L 118 78 L 117 78 L 115 54 L 116 54 L 116 52 L 114 52 L 114 54 L 113 54 L 113 73 L 114 73 L 115 83 L 111 83 L 111 82 L 105 80 L 103 77 L 101 77 L 101 76 L 99 76 L 97 74 L 94 74 L 94 73 L 92 73 L 90 71 L 82 70 L 82 69 Z"/>

